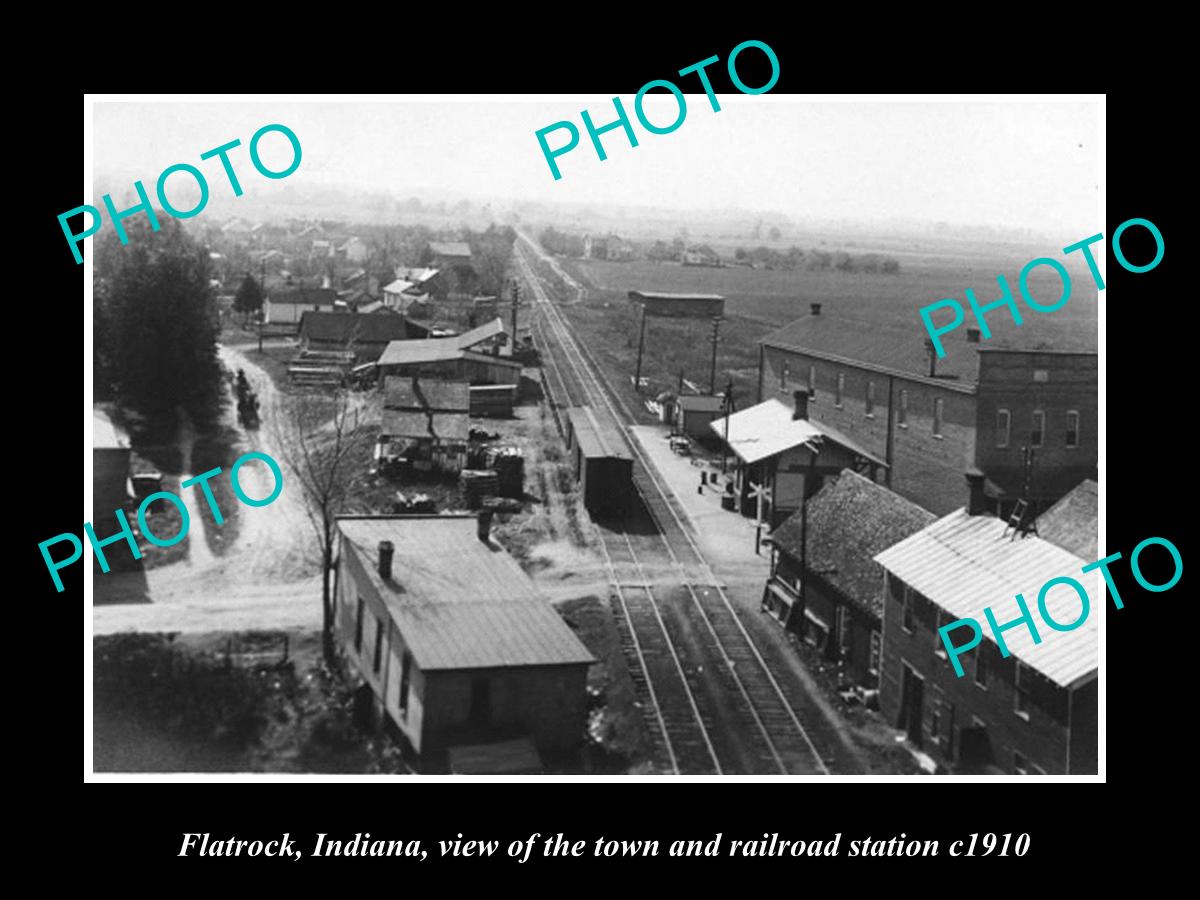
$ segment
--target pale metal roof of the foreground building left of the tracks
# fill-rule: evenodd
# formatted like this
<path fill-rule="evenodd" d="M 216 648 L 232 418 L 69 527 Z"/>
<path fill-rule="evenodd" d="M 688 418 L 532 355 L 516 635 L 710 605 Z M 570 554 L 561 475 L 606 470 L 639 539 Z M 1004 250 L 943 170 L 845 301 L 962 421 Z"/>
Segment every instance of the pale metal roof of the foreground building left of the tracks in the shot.
<path fill-rule="evenodd" d="M 340 517 L 337 527 L 421 670 L 595 661 L 516 560 L 479 540 L 474 516 Z M 386 583 L 383 540 L 395 546 Z"/>

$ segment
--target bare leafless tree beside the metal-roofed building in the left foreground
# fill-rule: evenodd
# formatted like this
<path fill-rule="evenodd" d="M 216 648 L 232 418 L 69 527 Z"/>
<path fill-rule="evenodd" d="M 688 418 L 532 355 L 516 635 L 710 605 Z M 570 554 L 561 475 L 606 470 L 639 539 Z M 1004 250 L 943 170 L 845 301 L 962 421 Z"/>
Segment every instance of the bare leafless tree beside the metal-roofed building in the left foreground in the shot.
<path fill-rule="evenodd" d="M 337 598 L 330 578 L 337 566 L 334 542 L 337 516 L 352 510 L 356 464 L 365 464 L 370 433 L 360 425 L 359 408 L 347 388 L 324 394 L 295 395 L 275 420 L 284 462 L 304 487 L 305 510 L 320 553 L 322 650 L 335 661 L 334 623 Z"/>

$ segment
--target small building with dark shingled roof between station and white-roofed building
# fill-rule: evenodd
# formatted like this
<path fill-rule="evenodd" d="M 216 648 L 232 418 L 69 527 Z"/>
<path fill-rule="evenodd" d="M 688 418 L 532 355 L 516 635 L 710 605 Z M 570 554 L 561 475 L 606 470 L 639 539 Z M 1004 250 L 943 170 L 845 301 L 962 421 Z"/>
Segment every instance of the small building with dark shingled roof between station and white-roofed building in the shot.
<path fill-rule="evenodd" d="M 935 516 L 844 469 L 772 532 L 763 607 L 840 661 L 845 677 L 875 689 L 883 646 L 883 569 L 872 557 Z"/>

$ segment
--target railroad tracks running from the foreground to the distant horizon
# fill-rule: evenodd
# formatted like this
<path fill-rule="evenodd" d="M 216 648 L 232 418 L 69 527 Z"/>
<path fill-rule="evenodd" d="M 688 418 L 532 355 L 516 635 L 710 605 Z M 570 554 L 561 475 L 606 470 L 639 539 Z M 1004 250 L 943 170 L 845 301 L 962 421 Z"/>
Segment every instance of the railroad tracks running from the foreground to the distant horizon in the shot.
<path fill-rule="evenodd" d="M 535 330 L 551 370 L 548 401 L 607 410 L 634 455 L 642 509 L 626 523 L 631 528 L 600 533 L 618 634 L 660 758 L 677 774 L 830 774 L 827 760 L 842 756 L 840 736 L 811 697 L 773 674 L 630 433 L 629 408 L 546 296 L 521 240 L 515 254 L 541 312 Z M 648 570 L 664 565 L 679 577 L 677 586 L 650 577 Z"/>

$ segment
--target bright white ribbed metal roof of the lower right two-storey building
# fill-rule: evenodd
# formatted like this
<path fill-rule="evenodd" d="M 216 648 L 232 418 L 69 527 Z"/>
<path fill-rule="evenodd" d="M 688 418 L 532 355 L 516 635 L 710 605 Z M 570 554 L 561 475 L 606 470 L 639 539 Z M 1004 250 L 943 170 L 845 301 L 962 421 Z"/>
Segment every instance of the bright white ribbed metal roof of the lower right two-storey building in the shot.
<path fill-rule="evenodd" d="M 1104 594 L 1096 589 L 1099 578 L 1081 572 L 1090 560 L 1032 535 L 1003 536 L 1004 526 L 992 516 L 970 516 L 960 509 L 888 547 L 875 562 L 955 618 L 976 619 L 992 642 L 984 607 L 991 607 L 998 623 L 1010 622 L 1020 613 L 1014 598 L 1021 594 L 1042 643 L 1034 644 L 1028 629 L 1019 625 L 1004 631 L 1009 653 L 1055 684 L 1070 686 L 1086 679 L 1099 658 L 1104 614 Z M 1074 631 L 1052 630 L 1038 611 L 1042 586 L 1062 576 L 1092 588 L 1092 608 Z M 1079 598 L 1069 586 L 1057 586 L 1046 595 L 1046 607 L 1055 620 L 1070 623 L 1079 616 Z"/>

